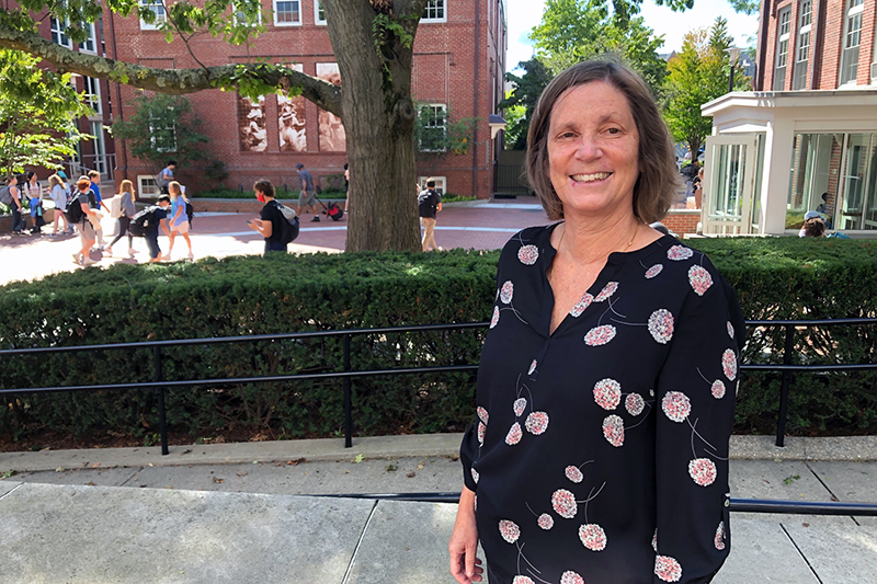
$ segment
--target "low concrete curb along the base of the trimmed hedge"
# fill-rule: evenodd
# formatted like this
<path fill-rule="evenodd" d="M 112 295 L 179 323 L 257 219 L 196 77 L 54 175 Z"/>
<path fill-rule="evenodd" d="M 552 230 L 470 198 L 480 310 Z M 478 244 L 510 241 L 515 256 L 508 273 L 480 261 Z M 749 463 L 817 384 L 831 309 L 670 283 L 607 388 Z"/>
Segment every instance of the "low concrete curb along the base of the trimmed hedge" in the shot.
<path fill-rule="evenodd" d="M 463 434 L 419 434 L 354 438 L 344 448 L 343 438 L 273 440 L 234 444 L 178 445 L 168 456 L 161 448 L 93 448 L 0 453 L 0 474 L 9 470 L 37 472 L 78 468 L 171 467 L 189 465 L 234 465 L 274 460 L 343 461 L 360 455 L 381 458 L 456 458 Z M 733 460 L 877 461 L 877 436 L 829 438 L 787 437 L 785 447 L 774 445 L 773 436 L 731 436 Z"/>

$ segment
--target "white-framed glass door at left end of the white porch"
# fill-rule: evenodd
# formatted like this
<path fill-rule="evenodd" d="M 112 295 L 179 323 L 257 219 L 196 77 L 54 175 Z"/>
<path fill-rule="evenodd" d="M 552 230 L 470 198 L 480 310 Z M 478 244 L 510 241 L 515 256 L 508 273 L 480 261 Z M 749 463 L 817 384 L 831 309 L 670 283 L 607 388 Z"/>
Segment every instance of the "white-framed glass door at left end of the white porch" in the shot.
<path fill-rule="evenodd" d="M 702 211 L 704 233 L 733 236 L 753 231 L 756 142 L 755 134 L 707 137 Z"/>

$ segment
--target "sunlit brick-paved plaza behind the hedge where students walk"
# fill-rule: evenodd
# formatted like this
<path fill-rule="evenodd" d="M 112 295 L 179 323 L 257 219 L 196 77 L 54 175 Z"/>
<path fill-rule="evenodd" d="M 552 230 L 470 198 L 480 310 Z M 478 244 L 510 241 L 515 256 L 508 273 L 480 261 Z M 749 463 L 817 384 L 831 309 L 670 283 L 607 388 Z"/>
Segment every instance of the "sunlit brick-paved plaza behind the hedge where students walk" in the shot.
<path fill-rule="evenodd" d="M 196 199 L 197 202 L 197 199 Z M 247 221 L 254 218 L 251 214 L 236 213 L 201 213 L 195 216 L 192 230 L 192 248 L 195 257 L 227 255 L 260 255 L 264 251 L 264 241 L 252 231 Z M 294 253 L 329 252 L 344 250 L 346 237 L 346 216 L 341 221 L 332 221 L 322 217 L 319 224 L 310 222 L 311 215 L 303 217 L 301 231 L 295 243 L 289 245 Z M 463 248 L 477 250 L 500 249 L 521 229 L 534 225 L 545 225 L 548 218 L 535 197 L 525 197 L 512 203 L 449 203 L 438 214 L 435 240 L 445 249 Z M 104 239 L 109 243 L 115 229 L 115 220 L 104 218 Z M 44 228 L 48 233 L 50 228 Z M 159 238 L 162 251 L 168 250 L 168 239 Z M 78 236 L 0 236 L 0 259 L 4 266 L 0 274 L 0 285 L 18 279 L 37 279 L 48 274 L 70 272 L 79 267 L 72 262 L 72 254 L 80 248 Z M 135 238 L 134 248 L 138 251 L 135 259 L 127 255 L 127 239 L 114 245 L 114 256 L 93 252 L 92 260 L 98 266 L 114 263 L 146 262 L 149 256 L 143 239 Z M 176 238 L 172 259 L 183 260 L 187 256 L 185 241 Z"/>

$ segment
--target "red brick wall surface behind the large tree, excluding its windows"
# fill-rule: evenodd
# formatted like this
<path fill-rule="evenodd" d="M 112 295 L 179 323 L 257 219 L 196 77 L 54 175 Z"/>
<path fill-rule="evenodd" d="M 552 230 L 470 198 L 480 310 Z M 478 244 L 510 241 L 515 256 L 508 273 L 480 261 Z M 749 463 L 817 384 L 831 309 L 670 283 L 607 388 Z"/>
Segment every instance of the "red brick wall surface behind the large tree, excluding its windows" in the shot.
<path fill-rule="evenodd" d="M 274 26 L 267 22 L 267 31 L 259 36 L 250 47 L 234 47 L 221 38 L 209 35 L 195 37 L 191 42 L 192 50 L 205 65 L 227 62 L 244 62 L 251 57 L 267 57 L 275 62 L 294 61 L 301 64 L 308 75 L 316 75 L 317 64 L 332 62 L 332 46 L 327 27 L 314 22 L 314 2 L 301 0 L 300 26 Z M 447 154 L 440 163 L 421 164 L 419 175 L 435 174 L 446 176 L 447 192 L 488 197 L 492 187 L 492 144 L 488 116 L 494 112 L 493 88 L 502 87 L 505 72 L 505 37 L 498 8 L 500 0 L 478 0 L 480 4 L 479 59 L 480 66 L 476 87 L 475 71 L 475 30 L 476 2 L 469 0 L 446 0 L 446 23 L 422 22 L 418 28 L 414 43 L 412 92 L 417 101 L 444 103 L 453 119 L 478 117 L 477 144 L 475 151 L 466 154 Z M 497 4 L 497 5 L 494 5 Z M 272 7 L 271 0 L 263 0 L 266 9 Z M 189 68 L 197 64 L 189 56 L 180 41 L 167 44 L 163 34 L 153 31 L 140 31 L 137 19 L 114 19 L 118 58 L 126 61 L 140 62 L 153 67 Z M 489 70 L 493 58 L 494 69 Z M 122 114 L 130 112 L 130 100 L 137 90 L 122 89 Z M 277 99 L 269 95 L 265 99 L 265 127 L 267 147 L 263 152 L 242 151 L 239 140 L 240 114 L 237 95 L 220 91 L 202 91 L 190 95 L 194 112 L 205 123 L 203 131 L 210 138 L 207 146 L 209 159 L 226 163 L 229 178 L 228 186 L 237 188 L 243 185 L 249 188 L 252 182 L 261 176 L 276 184 L 296 184 L 295 164 L 303 163 L 310 170 L 315 179 L 340 174 L 346 161 L 343 151 L 321 151 L 319 144 L 318 108 L 305 102 L 305 131 L 307 151 L 281 151 L 277 130 Z M 117 180 L 127 174 L 132 180 L 137 174 L 151 174 L 137 160 L 128 159 L 126 172 L 119 172 Z M 475 170 L 474 170 L 475 169 Z M 202 169 L 180 169 L 182 178 L 193 188 L 203 182 Z M 186 172 L 187 171 L 187 172 Z M 472 180 L 472 175 L 476 180 Z M 475 186 L 474 186 L 475 182 Z"/>

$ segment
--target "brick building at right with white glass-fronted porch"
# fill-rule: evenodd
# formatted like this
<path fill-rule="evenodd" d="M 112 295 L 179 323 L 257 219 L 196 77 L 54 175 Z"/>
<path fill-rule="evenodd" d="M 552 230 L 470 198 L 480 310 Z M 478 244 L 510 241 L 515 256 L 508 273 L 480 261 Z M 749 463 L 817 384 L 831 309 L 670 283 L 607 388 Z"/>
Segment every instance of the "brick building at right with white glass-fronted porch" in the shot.
<path fill-rule="evenodd" d="M 877 231 L 876 0 L 763 0 L 754 92 L 702 107 L 714 232 Z"/>

